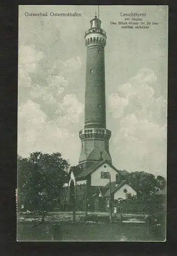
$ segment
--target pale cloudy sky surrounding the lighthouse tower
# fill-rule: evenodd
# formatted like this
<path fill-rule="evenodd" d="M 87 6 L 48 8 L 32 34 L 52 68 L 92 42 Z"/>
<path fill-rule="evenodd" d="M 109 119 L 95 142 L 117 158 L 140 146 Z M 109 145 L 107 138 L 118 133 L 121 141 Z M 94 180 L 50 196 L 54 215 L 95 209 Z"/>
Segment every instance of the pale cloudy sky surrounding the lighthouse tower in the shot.
<path fill-rule="evenodd" d="M 86 47 L 97 6 L 20 6 L 18 154 L 60 152 L 78 164 L 84 123 Z M 25 16 L 48 12 L 48 16 Z M 78 12 L 80 16 L 50 16 Z M 147 13 L 149 29 L 121 29 L 120 13 Z M 100 6 L 106 31 L 106 125 L 113 164 L 166 176 L 167 6 Z"/>

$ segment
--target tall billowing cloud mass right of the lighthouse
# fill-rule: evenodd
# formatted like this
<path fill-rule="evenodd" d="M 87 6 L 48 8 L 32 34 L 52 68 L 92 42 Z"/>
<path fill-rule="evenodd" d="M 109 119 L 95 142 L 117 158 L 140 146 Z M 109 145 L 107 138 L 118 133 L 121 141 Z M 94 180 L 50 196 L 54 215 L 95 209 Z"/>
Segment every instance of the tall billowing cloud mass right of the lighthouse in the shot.
<path fill-rule="evenodd" d="M 146 68 L 108 96 L 115 119 L 112 157 L 120 168 L 166 174 L 167 101 L 156 98 L 156 75 Z"/>

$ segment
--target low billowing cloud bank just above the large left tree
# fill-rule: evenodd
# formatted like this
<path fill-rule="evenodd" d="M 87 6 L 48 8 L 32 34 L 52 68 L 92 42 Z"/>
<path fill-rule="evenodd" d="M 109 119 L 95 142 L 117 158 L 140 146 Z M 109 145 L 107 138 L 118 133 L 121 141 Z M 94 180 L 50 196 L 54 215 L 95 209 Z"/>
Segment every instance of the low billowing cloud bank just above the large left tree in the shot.
<path fill-rule="evenodd" d="M 78 147 L 78 148 L 77 148 Z M 28 100 L 18 110 L 18 154 L 28 157 L 34 151 L 60 152 L 71 164 L 76 164 L 80 143 L 76 134 L 70 134 L 55 121 L 48 121 L 40 105 Z"/>

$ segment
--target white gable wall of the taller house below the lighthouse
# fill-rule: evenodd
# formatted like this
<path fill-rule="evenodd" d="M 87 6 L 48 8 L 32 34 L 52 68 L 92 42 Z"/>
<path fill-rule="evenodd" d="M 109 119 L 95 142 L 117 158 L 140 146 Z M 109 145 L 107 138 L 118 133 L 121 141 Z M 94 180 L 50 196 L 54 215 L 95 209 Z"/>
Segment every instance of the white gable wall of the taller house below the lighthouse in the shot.
<path fill-rule="evenodd" d="M 101 165 L 94 173 L 92 173 L 91 186 L 105 186 L 109 182 L 109 179 L 101 179 L 101 172 L 109 172 L 110 180 L 116 181 L 116 170 L 106 163 Z"/>

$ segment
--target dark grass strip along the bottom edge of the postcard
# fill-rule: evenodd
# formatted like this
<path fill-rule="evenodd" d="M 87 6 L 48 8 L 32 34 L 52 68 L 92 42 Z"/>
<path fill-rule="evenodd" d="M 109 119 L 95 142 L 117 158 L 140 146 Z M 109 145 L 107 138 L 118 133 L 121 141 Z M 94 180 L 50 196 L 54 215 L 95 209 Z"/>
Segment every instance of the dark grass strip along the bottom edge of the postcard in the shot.
<path fill-rule="evenodd" d="M 164 233 L 164 232 L 163 232 Z M 37 227 L 17 225 L 18 241 L 164 241 L 162 233 L 150 233 L 147 225 L 109 223 L 51 223 Z"/>

